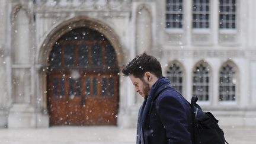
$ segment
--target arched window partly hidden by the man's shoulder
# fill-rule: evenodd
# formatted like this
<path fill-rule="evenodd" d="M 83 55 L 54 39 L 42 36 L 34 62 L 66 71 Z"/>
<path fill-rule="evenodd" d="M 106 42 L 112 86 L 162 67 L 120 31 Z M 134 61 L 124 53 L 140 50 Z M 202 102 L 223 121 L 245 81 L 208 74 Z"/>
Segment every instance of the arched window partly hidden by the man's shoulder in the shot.
<path fill-rule="evenodd" d="M 172 87 L 174 87 L 181 94 L 183 93 L 183 68 L 178 62 L 172 62 L 167 69 L 167 78 L 171 81 Z"/>

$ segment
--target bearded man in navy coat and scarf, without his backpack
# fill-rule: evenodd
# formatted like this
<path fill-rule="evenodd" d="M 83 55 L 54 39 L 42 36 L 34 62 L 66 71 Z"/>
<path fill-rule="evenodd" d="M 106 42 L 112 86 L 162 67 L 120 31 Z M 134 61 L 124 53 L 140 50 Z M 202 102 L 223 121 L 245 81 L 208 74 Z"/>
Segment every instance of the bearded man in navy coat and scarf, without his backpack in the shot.
<path fill-rule="evenodd" d="M 143 53 L 124 66 L 122 72 L 145 99 L 139 110 L 137 144 L 191 144 L 190 103 L 162 76 L 158 60 Z"/>

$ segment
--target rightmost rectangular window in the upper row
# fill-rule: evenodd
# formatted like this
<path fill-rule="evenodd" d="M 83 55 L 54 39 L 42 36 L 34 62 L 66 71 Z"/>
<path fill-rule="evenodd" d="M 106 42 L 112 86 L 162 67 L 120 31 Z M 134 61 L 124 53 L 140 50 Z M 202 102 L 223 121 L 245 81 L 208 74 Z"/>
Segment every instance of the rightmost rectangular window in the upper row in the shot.
<path fill-rule="evenodd" d="M 236 28 L 236 0 L 219 1 L 219 28 Z"/>

